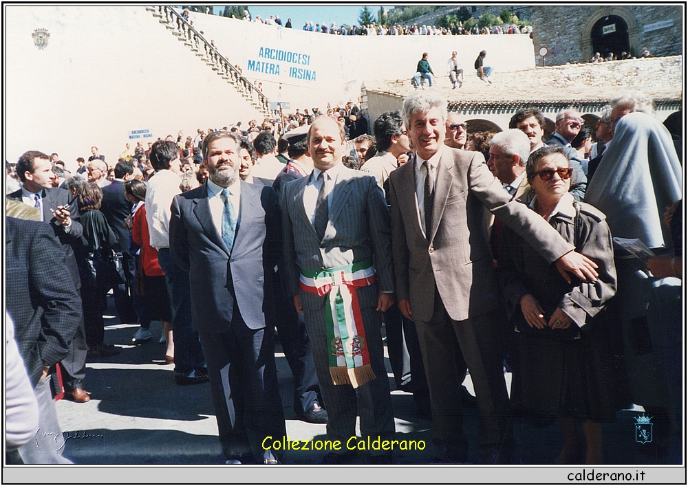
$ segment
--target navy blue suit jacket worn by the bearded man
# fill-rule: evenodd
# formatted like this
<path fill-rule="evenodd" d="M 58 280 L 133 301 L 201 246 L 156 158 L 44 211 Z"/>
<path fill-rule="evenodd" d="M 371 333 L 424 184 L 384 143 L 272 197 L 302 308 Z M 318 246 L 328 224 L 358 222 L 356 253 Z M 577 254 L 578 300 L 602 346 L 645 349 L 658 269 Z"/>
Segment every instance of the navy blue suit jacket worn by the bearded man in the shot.
<path fill-rule="evenodd" d="M 208 184 L 176 195 L 169 227 L 173 260 L 189 272 L 193 327 L 224 333 L 235 306 L 250 329 L 273 324 L 271 275 L 281 249 L 281 215 L 275 190 L 241 181 L 232 251 L 219 234 L 208 202 Z"/>

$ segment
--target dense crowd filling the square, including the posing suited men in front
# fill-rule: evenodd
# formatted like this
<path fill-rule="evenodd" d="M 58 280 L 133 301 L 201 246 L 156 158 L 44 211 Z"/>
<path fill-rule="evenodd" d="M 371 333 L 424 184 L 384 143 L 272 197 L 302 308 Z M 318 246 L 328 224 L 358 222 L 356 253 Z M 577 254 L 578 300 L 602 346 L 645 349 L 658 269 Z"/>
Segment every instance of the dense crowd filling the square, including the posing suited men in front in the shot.
<path fill-rule="evenodd" d="M 24 153 L 7 195 L 7 312 L 41 428 L 60 433 L 56 366 L 85 402 L 87 353 L 118 353 L 111 290 L 121 322 L 140 325 L 134 344 L 162 322 L 175 384 L 210 382 L 228 464 L 281 461 L 261 445 L 286 436 L 275 329 L 303 420 L 327 423 L 332 443 L 356 436 L 357 415 L 364 438 L 394 439 L 383 322 L 394 386 L 431 417 L 436 463 L 469 460 L 465 406 L 486 464 L 510 463 L 519 415 L 559 421 L 557 463 L 603 463 L 602 424 L 630 404 L 666 453 L 682 403 L 680 285 L 667 279 L 682 277 L 682 179 L 652 100 L 612 100 L 594 146 L 574 109 L 547 140 L 537 107 L 469 135 L 435 91 L 411 93 L 373 135 L 361 120 L 328 104 L 283 131 L 250 120 L 127 144 L 112 167 L 94 146 L 71 176 L 56 153 Z M 69 462 L 22 439 L 26 389 L 8 390 L 8 458 Z M 350 452 L 323 463 L 360 461 Z"/>

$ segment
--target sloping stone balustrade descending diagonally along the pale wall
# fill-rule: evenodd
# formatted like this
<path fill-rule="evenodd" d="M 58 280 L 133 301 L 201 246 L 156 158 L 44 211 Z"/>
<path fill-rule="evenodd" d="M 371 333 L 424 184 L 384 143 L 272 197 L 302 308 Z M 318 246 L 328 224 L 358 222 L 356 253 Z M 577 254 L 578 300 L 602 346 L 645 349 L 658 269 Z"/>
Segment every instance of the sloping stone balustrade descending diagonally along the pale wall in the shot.
<path fill-rule="evenodd" d="M 222 56 L 210 42 L 206 41 L 176 10 L 166 5 L 146 7 L 146 10 L 151 12 L 178 41 L 183 42 L 206 65 L 210 66 L 217 76 L 221 76 L 228 84 L 232 85 L 255 109 L 268 118 L 275 118 L 275 111 L 270 109 L 270 100 L 248 79 L 241 76 L 237 68 Z"/>

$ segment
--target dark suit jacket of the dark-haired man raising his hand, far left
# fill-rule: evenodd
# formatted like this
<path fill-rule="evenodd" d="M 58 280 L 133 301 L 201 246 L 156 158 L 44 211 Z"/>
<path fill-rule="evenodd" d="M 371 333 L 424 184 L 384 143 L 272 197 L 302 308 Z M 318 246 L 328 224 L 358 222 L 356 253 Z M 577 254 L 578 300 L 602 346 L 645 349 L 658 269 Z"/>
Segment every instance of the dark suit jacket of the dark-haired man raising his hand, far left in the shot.
<path fill-rule="evenodd" d="M 83 226 L 79 222 L 79 208 L 76 199 L 72 199 L 72 194 L 68 190 L 61 188 L 44 189 L 43 194 L 45 194 L 43 197 L 43 221 L 50 223 L 50 228 L 52 228 L 55 236 L 62 243 L 65 258 L 67 258 L 69 274 L 72 276 L 76 288 L 80 289 L 79 269 L 76 266 L 76 258 L 74 258 L 74 250 L 72 249 L 72 245 L 77 247 L 81 245 L 81 236 L 83 235 Z M 21 202 L 21 189 L 12 192 L 7 198 Z M 65 231 L 65 227 L 58 223 L 52 215 L 52 210 L 56 209 L 57 206 L 69 208 L 69 213 L 72 217 L 72 228 L 69 230 L 69 233 Z"/>

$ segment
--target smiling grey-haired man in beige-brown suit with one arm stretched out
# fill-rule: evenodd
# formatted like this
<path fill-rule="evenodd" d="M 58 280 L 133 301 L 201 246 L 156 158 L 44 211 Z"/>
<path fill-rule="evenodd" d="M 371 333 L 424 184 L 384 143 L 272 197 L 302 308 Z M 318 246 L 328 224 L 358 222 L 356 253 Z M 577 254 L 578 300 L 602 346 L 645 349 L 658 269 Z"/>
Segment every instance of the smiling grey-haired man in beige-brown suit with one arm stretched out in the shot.
<path fill-rule="evenodd" d="M 480 153 L 444 146 L 447 100 L 431 91 L 404 100 L 416 155 L 389 177 L 392 256 L 399 307 L 416 321 L 430 388 L 433 443 L 444 463 L 466 462 L 454 336 L 469 366 L 480 412 L 484 463 L 508 462 L 512 426 L 501 353 L 499 298 L 483 207 L 539 248 L 563 278 L 596 278 L 596 265 L 574 252 L 547 222 L 515 201 Z M 428 177 L 429 176 L 429 177 Z"/>

